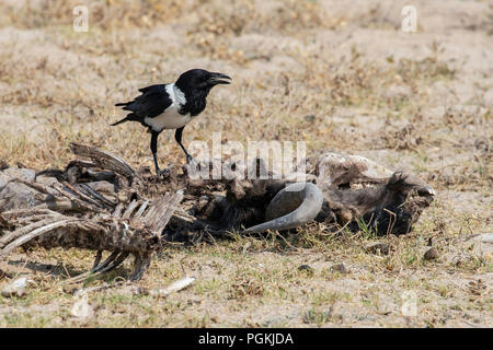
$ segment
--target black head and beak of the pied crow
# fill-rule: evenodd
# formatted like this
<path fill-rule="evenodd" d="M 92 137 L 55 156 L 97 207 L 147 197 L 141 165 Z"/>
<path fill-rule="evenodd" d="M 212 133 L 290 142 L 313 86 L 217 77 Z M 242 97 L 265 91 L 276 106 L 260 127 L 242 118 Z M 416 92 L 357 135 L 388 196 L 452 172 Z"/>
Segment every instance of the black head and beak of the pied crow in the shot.
<path fill-rule="evenodd" d="M 191 91 L 207 91 L 218 84 L 229 84 L 229 81 L 223 80 L 229 78 L 222 73 L 209 72 L 204 69 L 192 69 L 180 75 L 175 85 L 183 92 Z"/>

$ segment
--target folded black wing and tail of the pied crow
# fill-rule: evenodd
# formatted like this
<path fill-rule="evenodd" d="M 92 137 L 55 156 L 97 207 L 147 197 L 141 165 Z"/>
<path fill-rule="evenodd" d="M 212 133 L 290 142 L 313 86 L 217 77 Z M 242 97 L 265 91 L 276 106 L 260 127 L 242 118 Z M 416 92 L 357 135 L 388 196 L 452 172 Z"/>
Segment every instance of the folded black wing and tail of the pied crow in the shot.
<path fill-rule="evenodd" d="M 167 92 L 167 85 L 150 85 L 139 89 L 142 93 L 134 101 L 117 103 L 115 106 L 123 106 L 124 110 L 130 110 L 127 120 L 141 121 L 144 118 L 153 118 L 163 113 L 173 103 Z M 129 118 L 128 118 L 129 117 Z"/>

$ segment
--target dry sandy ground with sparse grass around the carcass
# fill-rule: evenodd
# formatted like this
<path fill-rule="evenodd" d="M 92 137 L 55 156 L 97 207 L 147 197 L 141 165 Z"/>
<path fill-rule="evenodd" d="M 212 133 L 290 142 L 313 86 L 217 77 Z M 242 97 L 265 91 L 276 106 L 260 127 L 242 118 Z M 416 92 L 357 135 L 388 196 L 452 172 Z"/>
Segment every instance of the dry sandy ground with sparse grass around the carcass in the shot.
<path fill-rule="evenodd" d="M 284 240 L 170 245 L 139 293 L 90 292 L 90 318 L 71 315 L 64 276 L 90 268 L 92 253 L 19 250 L 0 262 L 0 289 L 23 273 L 33 282 L 0 296 L 0 327 L 491 327 L 493 253 L 480 234 L 492 233 L 493 4 L 408 2 L 89 0 L 84 33 L 76 1 L 0 1 L 0 164 L 64 167 L 76 141 L 151 166 L 146 130 L 110 127 L 123 115 L 113 105 L 205 68 L 233 83 L 213 90 L 185 145 L 213 131 L 302 140 L 308 155 L 360 154 L 437 192 L 400 237 L 310 224 Z M 404 4 L 416 33 L 401 30 Z M 184 163 L 171 132 L 159 156 Z M 390 254 L 368 253 L 374 241 Z M 429 244 L 438 257 L 424 260 Z M 184 291 L 146 293 L 184 276 L 196 278 Z"/>

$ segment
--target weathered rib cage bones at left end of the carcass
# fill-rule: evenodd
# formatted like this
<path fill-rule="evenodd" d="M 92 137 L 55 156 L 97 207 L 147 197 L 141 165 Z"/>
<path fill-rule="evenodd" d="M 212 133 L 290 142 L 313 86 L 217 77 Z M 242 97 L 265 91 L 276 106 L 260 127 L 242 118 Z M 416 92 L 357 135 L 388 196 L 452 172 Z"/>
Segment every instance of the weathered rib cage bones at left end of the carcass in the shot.
<path fill-rule="evenodd" d="M 105 196 L 104 187 L 119 185 L 138 190 L 144 179 L 106 152 L 80 144 L 72 144 L 72 151 L 91 161 L 74 161 L 66 172 L 43 172 L 36 180 L 30 170 L 0 173 L 0 255 L 7 256 L 19 246 L 96 250 L 93 268 L 73 281 L 111 271 L 131 255 L 135 269 L 129 279 L 140 279 L 160 247 L 161 233 L 183 191 L 167 192 L 153 200 L 118 199 L 113 190 Z M 84 173 L 78 177 L 74 173 L 82 168 Z M 94 180 L 88 182 L 91 177 Z M 111 254 L 101 261 L 104 250 Z"/>

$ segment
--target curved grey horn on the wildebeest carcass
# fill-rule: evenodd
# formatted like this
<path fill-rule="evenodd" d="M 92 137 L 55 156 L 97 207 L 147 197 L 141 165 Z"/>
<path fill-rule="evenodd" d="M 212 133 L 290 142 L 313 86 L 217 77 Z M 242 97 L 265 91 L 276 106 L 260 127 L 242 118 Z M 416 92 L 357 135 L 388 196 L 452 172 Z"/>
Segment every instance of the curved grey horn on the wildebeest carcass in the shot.
<path fill-rule="evenodd" d="M 286 186 L 267 207 L 267 222 L 249 228 L 243 233 L 260 233 L 267 230 L 288 230 L 313 220 L 320 212 L 323 195 L 311 183 L 296 183 Z"/>

